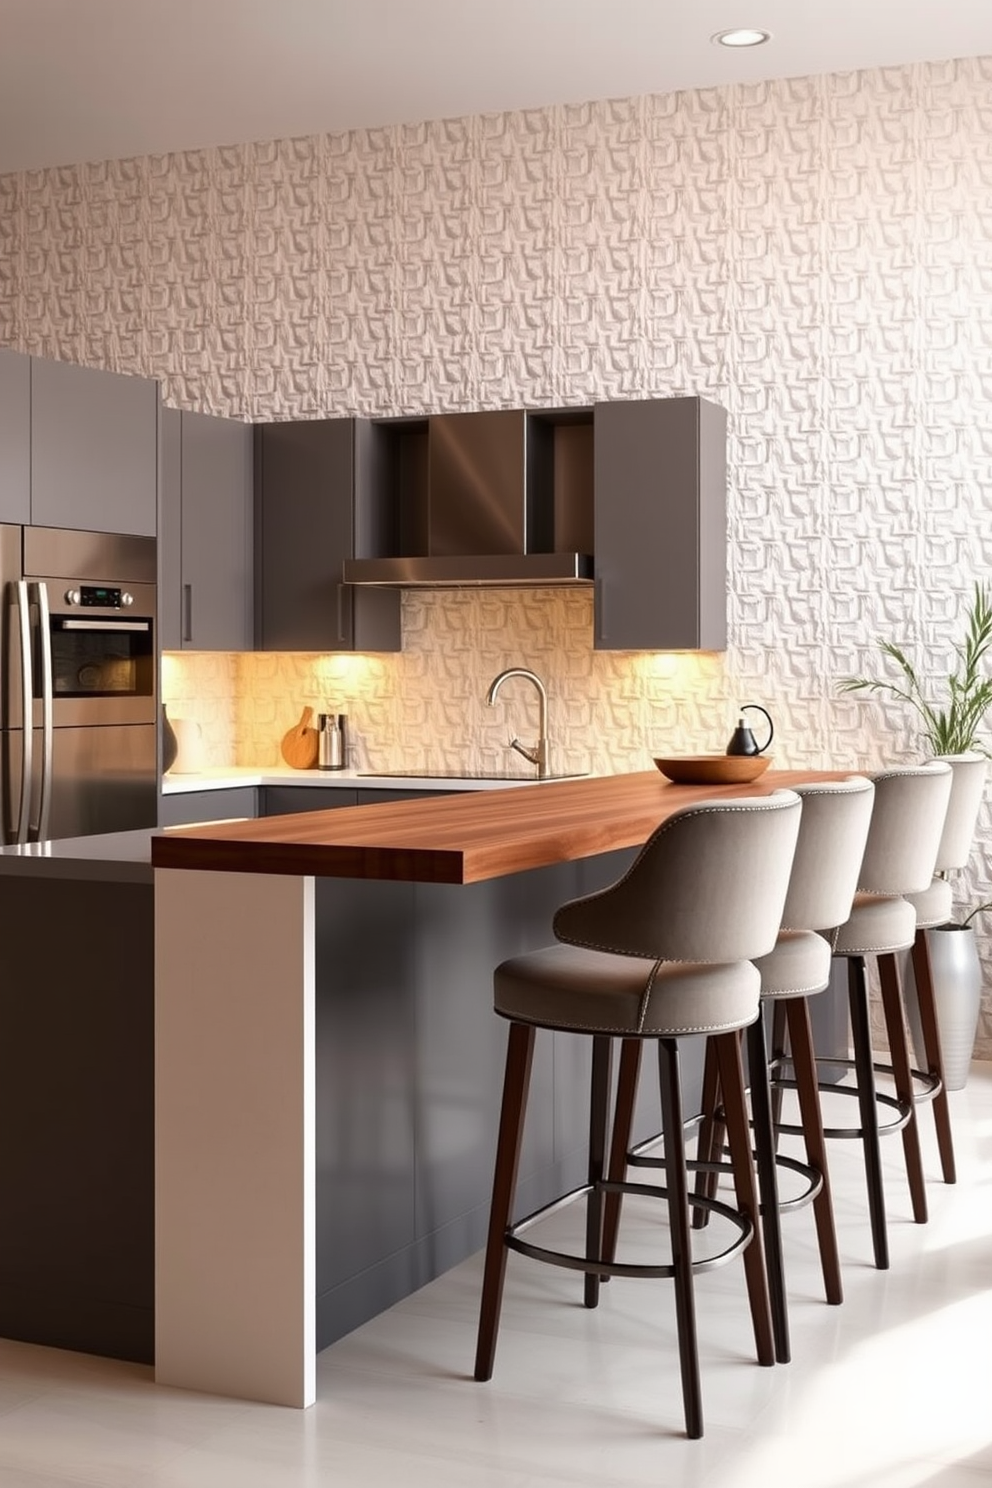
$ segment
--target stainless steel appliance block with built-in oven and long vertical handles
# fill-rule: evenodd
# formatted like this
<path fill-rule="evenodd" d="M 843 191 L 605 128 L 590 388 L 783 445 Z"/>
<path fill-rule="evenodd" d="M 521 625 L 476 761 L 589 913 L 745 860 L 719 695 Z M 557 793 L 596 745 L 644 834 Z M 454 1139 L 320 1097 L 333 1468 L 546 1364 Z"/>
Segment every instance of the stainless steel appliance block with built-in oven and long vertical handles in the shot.
<path fill-rule="evenodd" d="M 0 528 L 4 841 L 155 826 L 155 561 L 150 537 Z"/>

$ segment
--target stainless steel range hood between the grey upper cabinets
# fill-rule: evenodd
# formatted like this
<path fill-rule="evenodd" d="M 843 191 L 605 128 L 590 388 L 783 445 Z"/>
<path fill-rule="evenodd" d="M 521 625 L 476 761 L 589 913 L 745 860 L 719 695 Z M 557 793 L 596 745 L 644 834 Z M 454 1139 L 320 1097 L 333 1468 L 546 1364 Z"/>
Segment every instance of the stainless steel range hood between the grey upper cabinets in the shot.
<path fill-rule="evenodd" d="M 552 442 L 559 427 L 522 409 L 448 414 L 427 420 L 422 488 L 399 522 L 410 548 L 402 557 L 345 561 L 345 583 L 391 588 L 544 588 L 592 582 L 592 557 L 565 546 L 574 537 L 555 500 Z M 582 455 L 590 461 L 590 440 Z M 589 482 L 590 470 L 584 481 Z M 558 509 L 558 510 L 556 510 Z M 556 519 L 558 516 L 558 519 Z M 589 537 L 587 530 L 579 531 Z"/>

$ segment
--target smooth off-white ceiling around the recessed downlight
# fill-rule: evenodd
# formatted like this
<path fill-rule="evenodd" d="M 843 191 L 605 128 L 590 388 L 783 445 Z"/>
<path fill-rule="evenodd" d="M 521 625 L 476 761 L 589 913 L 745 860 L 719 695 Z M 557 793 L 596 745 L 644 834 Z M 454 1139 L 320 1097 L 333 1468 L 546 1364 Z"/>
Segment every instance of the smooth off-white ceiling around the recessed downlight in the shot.
<path fill-rule="evenodd" d="M 0 173 L 980 55 L 992 0 L 0 0 Z"/>

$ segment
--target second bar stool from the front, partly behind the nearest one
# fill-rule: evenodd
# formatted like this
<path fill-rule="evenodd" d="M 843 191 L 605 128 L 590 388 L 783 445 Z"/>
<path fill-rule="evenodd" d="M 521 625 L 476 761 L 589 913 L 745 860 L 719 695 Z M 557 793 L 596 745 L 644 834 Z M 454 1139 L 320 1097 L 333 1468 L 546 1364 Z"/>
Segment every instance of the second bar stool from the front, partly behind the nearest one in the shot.
<path fill-rule="evenodd" d="M 782 1208 L 797 1208 L 812 1201 L 819 1247 L 819 1265 L 824 1277 L 827 1302 L 843 1301 L 837 1235 L 830 1196 L 830 1174 L 824 1141 L 819 1097 L 817 1091 L 817 1065 L 814 1056 L 812 1030 L 808 997 L 822 992 L 830 984 L 830 943 L 818 931 L 830 931 L 851 914 L 858 870 L 864 856 L 872 820 L 875 787 L 870 780 L 854 775 L 843 781 L 797 786 L 796 793 L 803 802 L 799 826 L 799 842 L 788 882 L 788 896 L 782 911 L 782 929 L 775 949 L 760 957 L 754 964 L 761 973 L 761 1003 L 775 1004 L 788 1024 L 790 1061 L 794 1068 L 794 1085 L 800 1107 L 800 1129 L 806 1149 L 806 1162 L 776 1155 L 772 1123 L 769 1068 L 764 1051 L 763 1021 L 747 1028 L 748 1083 L 751 1091 L 751 1120 L 754 1125 L 754 1147 L 757 1159 L 759 1193 L 761 1199 L 761 1232 L 767 1262 L 772 1323 L 775 1327 L 775 1357 L 779 1363 L 790 1359 L 788 1309 L 782 1265 L 782 1235 L 779 1213 Z M 702 1125 L 699 1129 L 699 1176 L 698 1192 L 715 1192 L 715 1176 L 723 1123 L 717 1119 L 718 1079 L 711 1048 L 706 1048 L 703 1077 Z M 628 1112 L 628 1132 L 629 1116 Z M 620 1129 L 622 1113 L 617 1112 L 614 1138 L 626 1146 Z M 653 1161 L 640 1149 L 628 1155 L 628 1161 Z M 779 1201 L 778 1165 L 784 1164 L 806 1178 L 805 1190 L 785 1204 Z M 611 1168 L 613 1176 L 613 1168 Z M 706 1219 L 705 1210 L 698 1210 L 695 1223 Z M 608 1251 L 607 1251 L 608 1253 Z"/>

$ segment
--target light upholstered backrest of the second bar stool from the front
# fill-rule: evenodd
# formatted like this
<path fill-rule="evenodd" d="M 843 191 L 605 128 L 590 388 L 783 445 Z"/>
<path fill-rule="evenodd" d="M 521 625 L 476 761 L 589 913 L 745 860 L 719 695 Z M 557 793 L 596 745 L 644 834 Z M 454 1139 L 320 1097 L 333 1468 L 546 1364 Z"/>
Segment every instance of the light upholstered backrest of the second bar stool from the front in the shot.
<path fill-rule="evenodd" d="M 864 775 L 796 786 L 803 804 L 784 930 L 833 930 L 851 914 L 875 786 Z"/>

